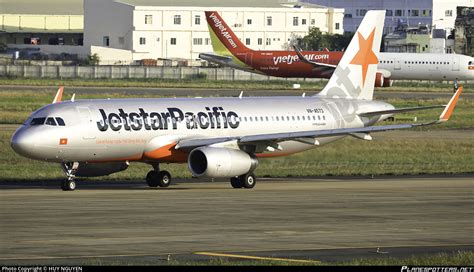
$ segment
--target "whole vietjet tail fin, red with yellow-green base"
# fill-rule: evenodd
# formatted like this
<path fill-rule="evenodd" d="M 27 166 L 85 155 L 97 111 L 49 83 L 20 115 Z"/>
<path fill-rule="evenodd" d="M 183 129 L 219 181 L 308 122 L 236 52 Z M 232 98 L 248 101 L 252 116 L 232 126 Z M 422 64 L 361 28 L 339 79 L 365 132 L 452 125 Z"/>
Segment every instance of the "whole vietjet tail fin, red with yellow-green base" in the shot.
<path fill-rule="evenodd" d="M 252 51 L 232 32 L 217 11 L 206 11 L 206 20 L 214 52 L 231 56 Z"/>

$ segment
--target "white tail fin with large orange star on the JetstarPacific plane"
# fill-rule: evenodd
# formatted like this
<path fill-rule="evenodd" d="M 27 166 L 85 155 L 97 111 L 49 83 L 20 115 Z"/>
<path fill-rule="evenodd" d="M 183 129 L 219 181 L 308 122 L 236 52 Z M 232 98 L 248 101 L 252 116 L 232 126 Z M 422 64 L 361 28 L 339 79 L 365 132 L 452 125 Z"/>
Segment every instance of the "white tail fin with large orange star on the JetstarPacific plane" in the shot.
<path fill-rule="evenodd" d="M 371 10 L 365 14 L 319 96 L 372 100 L 384 20 L 384 10 Z"/>

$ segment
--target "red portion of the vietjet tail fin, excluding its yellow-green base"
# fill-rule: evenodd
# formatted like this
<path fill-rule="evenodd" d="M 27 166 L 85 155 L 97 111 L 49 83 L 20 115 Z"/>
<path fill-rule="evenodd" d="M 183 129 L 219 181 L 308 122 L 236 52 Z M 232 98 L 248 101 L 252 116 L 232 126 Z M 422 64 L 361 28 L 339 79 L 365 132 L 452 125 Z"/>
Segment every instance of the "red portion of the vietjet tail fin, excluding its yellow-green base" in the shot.
<path fill-rule="evenodd" d="M 207 24 L 214 33 L 214 35 L 211 33 L 211 39 L 214 38 L 213 36 L 217 37 L 220 43 L 232 54 L 251 51 L 239 40 L 239 38 L 237 38 L 235 33 L 232 32 L 230 27 L 225 23 L 217 11 L 206 11 L 205 13 Z M 215 43 L 217 41 L 212 40 L 212 42 Z"/>

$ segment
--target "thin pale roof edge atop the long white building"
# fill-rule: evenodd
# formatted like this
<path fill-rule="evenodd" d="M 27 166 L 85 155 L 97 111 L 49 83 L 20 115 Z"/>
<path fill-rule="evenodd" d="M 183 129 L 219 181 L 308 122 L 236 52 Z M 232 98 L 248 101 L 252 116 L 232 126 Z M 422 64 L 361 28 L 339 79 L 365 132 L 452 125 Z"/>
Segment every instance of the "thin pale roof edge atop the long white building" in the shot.
<path fill-rule="evenodd" d="M 1 1 L 1 0 L 0 0 Z M 158 7 L 249 7 L 249 8 L 282 8 L 298 5 L 301 7 L 317 8 L 320 5 L 291 0 L 117 0 L 131 6 Z"/>

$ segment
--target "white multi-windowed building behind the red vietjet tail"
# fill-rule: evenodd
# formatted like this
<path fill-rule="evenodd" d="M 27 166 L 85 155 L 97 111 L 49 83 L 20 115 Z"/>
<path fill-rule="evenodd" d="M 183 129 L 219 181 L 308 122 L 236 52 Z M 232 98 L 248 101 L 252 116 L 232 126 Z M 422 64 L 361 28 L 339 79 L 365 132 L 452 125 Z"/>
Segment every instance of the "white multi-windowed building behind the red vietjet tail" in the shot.
<path fill-rule="evenodd" d="M 212 52 L 204 15 L 216 10 L 248 47 L 282 50 L 309 27 L 343 34 L 344 9 L 278 0 L 84 0 L 84 46 L 101 64 L 198 58 Z"/>

